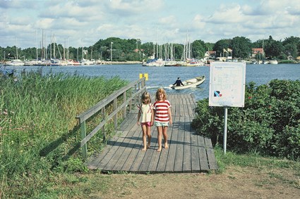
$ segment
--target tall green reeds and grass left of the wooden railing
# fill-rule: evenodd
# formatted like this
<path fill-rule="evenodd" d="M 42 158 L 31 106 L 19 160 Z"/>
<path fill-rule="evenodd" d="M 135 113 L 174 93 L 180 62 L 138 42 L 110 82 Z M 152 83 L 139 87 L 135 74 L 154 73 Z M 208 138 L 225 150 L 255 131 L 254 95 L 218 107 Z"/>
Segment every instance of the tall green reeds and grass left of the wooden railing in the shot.
<path fill-rule="evenodd" d="M 87 171 L 76 115 L 126 84 L 119 77 L 42 70 L 0 76 L 0 198 L 58 198 L 56 186 Z M 95 150 L 102 145 L 101 134 L 89 142 Z"/>

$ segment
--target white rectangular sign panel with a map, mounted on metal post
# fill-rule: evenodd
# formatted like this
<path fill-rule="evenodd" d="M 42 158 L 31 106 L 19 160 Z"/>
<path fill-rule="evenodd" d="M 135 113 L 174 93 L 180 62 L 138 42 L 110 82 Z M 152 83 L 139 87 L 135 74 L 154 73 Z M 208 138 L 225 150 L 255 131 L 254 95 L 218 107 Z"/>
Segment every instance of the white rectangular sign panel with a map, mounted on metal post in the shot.
<path fill-rule="evenodd" d="M 246 63 L 210 64 L 210 106 L 244 107 Z"/>

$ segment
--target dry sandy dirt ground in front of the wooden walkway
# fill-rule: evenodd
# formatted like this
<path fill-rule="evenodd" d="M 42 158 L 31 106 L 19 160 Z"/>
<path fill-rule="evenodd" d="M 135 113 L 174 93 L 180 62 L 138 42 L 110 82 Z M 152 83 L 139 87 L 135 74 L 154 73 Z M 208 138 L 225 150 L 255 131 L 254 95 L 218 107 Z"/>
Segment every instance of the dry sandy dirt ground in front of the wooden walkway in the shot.
<path fill-rule="evenodd" d="M 222 174 L 110 174 L 112 183 L 89 198 L 300 198 L 289 170 L 227 167 Z"/>

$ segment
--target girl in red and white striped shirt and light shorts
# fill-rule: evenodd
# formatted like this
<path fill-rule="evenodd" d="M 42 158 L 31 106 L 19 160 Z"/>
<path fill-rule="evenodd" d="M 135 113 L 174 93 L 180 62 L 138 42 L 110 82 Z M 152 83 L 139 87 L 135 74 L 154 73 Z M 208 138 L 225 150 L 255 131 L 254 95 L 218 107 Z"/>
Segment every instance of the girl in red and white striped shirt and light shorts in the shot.
<path fill-rule="evenodd" d="M 162 136 L 164 136 L 164 148 L 169 148 L 167 130 L 169 124 L 172 124 L 171 107 L 171 103 L 167 100 L 166 91 L 162 88 L 157 89 L 153 110 L 154 123 L 157 127 L 158 152 L 162 150 Z"/>

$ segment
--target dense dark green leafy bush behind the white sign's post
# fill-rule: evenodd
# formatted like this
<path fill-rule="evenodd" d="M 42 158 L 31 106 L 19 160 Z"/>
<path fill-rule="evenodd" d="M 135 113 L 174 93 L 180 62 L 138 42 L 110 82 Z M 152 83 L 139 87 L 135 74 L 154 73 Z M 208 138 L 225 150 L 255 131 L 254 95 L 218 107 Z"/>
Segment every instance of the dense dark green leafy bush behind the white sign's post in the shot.
<path fill-rule="evenodd" d="M 198 101 L 192 127 L 223 143 L 224 108 Z M 227 148 L 300 160 L 300 80 L 273 79 L 268 84 L 246 85 L 244 108 L 229 108 Z"/>

